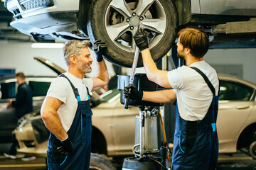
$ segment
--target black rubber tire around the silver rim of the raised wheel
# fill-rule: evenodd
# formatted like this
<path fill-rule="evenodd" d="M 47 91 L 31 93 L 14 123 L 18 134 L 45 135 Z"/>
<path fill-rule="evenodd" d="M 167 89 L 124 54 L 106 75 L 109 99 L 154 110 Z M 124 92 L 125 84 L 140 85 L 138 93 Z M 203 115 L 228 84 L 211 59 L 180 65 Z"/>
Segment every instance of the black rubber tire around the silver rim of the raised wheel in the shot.
<path fill-rule="evenodd" d="M 122 67 L 132 67 L 134 52 L 127 52 L 120 49 L 114 45 L 114 42 L 107 35 L 105 13 L 107 13 L 107 6 L 109 6 L 111 1 L 94 1 L 87 24 L 88 34 L 92 43 L 95 40 L 102 40 L 107 43 L 107 50 L 103 51 L 105 59 Z M 176 40 L 178 30 L 178 14 L 174 3 L 171 0 L 159 0 L 159 2 L 163 6 L 164 11 L 166 11 L 167 23 L 163 38 L 155 47 L 150 49 L 154 62 L 164 57 L 171 49 L 174 40 Z M 137 67 L 143 67 L 142 57 L 139 57 Z"/>

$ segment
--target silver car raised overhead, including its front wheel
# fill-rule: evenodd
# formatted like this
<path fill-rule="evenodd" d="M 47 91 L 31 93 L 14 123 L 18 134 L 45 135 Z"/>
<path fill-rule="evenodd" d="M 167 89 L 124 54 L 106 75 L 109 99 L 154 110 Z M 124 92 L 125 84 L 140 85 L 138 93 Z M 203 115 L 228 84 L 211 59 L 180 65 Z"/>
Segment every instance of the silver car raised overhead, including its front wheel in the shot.
<path fill-rule="evenodd" d="M 255 18 L 256 4 L 251 0 L 5 0 L 4 4 L 14 13 L 11 26 L 34 40 L 102 40 L 108 46 L 105 58 L 123 67 L 132 66 L 136 47 L 132 35 L 141 24 L 155 62 L 166 55 L 184 26 L 201 26 L 209 35 L 230 33 L 233 38 L 245 30 L 256 32 L 252 26 L 245 28 L 247 24 L 239 27 L 243 32 L 234 26 L 216 28 Z M 141 59 L 137 66 L 142 67 Z"/>

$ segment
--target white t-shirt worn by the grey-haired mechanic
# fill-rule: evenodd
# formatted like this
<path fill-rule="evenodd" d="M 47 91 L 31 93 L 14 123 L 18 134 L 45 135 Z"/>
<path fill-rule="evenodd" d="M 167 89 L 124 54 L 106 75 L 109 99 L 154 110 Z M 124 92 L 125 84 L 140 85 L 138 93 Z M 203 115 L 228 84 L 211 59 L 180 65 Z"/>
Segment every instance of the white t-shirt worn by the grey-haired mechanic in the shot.
<path fill-rule="evenodd" d="M 80 95 L 81 101 L 87 101 L 87 89 L 92 91 L 92 79 L 79 79 L 78 77 L 73 76 L 68 72 L 65 73 L 65 76 L 70 79 L 75 88 L 78 89 L 78 93 Z M 47 97 L 58 98 L 58 100 L 63 101 L 63 104 L 60 105 L 57 113 L 60 116 L 60 121 L 63 125 L 63 128 L 68 132 L 70 129 L 73 119 L 75 118 L 75 112 L 78 108 L 78 101 L 75 98 L 75 94 L 73 89 L 65 77 L 58 77 L 52 81 L 50 84 L 50 88 L 48 89 Z M 44 101 L 45 102 L 45 101 Z"/>

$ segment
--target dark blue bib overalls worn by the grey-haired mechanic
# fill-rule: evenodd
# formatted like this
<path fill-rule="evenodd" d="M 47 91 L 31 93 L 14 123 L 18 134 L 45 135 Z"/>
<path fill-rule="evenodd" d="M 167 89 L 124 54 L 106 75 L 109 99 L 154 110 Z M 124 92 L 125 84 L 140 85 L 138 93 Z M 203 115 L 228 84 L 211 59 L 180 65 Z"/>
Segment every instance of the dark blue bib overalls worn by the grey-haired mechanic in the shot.
<path fill-rule="evenodd" d="M 60 77 L 65 77 L 65 75 L 61 74 Z M 68 77 L 65 78 L 68 79 Z M 90 108 L 89 91 L 86 88 L 89 99 L 80 101 L 78 89 L 73 86 L 69 79 L 68 81 L 73 88 L 75 98 L 78 100 L 78 109 L 68 130 L 68 136 L 73 142 L 74 150 L 68 155 L 60 154 L 57 151 L 57 147 L 61 146 L 60 140 L 50 133 L 47 149 L 48 169 L 89 170 L 92 135 L 92 110 Z"/>

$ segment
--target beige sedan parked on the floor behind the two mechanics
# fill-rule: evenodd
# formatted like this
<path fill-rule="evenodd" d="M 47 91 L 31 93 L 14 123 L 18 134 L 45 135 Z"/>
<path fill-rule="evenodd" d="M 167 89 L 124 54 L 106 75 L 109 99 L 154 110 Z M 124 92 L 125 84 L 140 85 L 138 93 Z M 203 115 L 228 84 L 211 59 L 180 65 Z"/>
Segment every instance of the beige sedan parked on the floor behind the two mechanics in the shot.
<path fill-rule="evenodd" d="M 220 98 L 217 119 L 220 153 L 235 153 L 242 147 L 251 148 L 255 155 L 256 132 L 256 84 L 238 77 L 218 74 L 220 78 Z M 139 108 L 129 106 L 128 110 L 120 103 L 117 89 L 96 96 L 99 105 L 92 108 L 92 152 L 107 156 L 132 155 L 135 135 L 135 116 Z M 165 113 L 168 114 L 168 113 Z M 48 136 L 38 137 L 41 116 L 27 115 L 16 128 L 19 142 L 18 152 L 38 154 L 46 157 Z M 35 128 L 35 124 L 37 125 Z M 43 128 L 43 124 L 41 125 Z M 41 140 L 44 138 L 44 140 Z"/>

